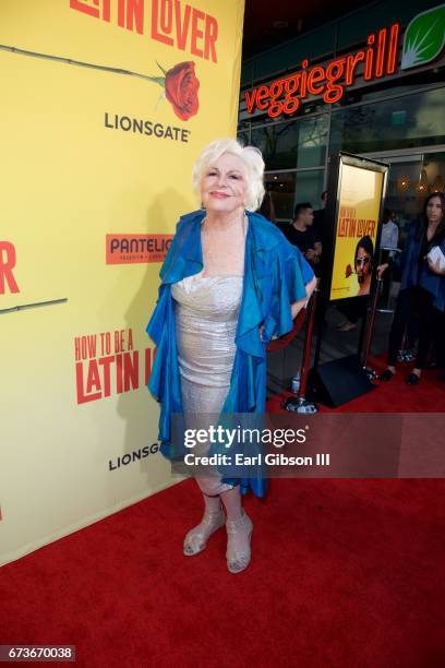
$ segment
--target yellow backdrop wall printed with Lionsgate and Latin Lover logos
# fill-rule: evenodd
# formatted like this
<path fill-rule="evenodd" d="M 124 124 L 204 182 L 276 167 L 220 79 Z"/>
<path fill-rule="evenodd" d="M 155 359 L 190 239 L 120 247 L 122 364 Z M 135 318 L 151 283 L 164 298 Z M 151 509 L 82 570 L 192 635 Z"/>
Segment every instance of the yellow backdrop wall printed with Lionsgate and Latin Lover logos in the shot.
<path fill-rule="evenodd" d="M 145 326 L 243 0 L 2 0 L 0 563 L 178 479 Z M 148 518 L 147 518 L 148 522 Z"/>

